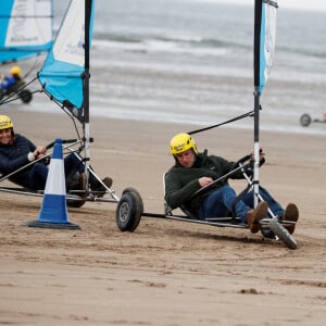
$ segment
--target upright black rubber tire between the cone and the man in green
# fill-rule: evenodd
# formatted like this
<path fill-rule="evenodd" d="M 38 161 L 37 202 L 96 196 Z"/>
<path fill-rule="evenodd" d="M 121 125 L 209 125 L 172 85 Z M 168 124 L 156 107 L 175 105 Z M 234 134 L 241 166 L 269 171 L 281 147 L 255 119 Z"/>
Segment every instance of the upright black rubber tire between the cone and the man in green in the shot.
<path fill-rule="evenodd" d="M 121 231 L 134 231 L 140 223 L 142 200 L 138 192 L 125 191 L 116 210 L 115 221 Z"/>

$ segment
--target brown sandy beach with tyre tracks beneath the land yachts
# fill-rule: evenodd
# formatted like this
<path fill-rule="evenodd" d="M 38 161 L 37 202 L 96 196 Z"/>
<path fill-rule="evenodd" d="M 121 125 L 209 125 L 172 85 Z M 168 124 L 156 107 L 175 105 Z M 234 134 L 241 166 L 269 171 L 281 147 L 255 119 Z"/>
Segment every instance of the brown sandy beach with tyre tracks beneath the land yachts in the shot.
<path fill-rule="evenodd" d="M 61 114 L 2 111 L 37 145 L 72 138 Z M 91 117 L 91 164 L 118 196 L 136 188 L 145 211 L 163 213 L 168 141 L 196 126 Z M 196 135 L 198 148 L 238 160 L 251 130 Z M 115 203 L 68 209 L 80 230 L 27 227 L 41 198 L 1 192 L 1 325 L 324 325 L 326 319 L 325 137 L 261 133 L 261 185 L 296 202 L 297 250 L 247 229 L 143 217 L 134 233 Z M 244 183 L 231 181 L 241 190 Z"/>

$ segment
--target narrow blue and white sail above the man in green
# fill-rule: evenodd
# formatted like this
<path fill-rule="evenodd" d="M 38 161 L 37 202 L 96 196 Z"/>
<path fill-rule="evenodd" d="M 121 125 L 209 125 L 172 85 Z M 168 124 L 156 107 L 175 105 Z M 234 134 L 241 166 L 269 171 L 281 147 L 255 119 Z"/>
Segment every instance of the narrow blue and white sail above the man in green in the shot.
<path fill-rule="evenodd" d="M 261 95 L 269 76 L 275 53 L 277 2 L 261 0 L 255 12 L 255 86 Z"/>

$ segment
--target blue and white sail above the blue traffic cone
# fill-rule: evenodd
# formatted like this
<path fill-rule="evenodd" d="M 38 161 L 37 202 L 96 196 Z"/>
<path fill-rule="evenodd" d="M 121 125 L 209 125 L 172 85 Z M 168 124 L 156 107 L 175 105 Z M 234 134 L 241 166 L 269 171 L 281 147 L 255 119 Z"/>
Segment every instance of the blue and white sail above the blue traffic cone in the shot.
<path fill-rule="evenodd" d="M 87 9 L 87 2 L 89 9 Z M 87 58 L 85 32 L 92 35 L 93 2 L 71 0 L 53 47 L 49 52 L 38 79 L 47 93 L 71 110 L 80 120 L 85 100 L 85 60 Z M 85 28 L 85 11 L 90 14 Z M 88 47 L 89 47 L 88 45 Z M 82 111 L 82 110 L 80 110 Z"/>

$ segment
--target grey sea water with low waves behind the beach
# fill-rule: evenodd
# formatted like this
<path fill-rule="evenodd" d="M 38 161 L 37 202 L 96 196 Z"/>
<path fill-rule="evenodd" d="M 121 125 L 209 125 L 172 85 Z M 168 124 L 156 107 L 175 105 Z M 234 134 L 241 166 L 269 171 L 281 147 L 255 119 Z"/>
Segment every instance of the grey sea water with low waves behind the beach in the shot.
<path fill-rule="evenodd" d="M 251 2 L 97 0 L 90 114 L 210 126 L 253 110 Z M 326 124 L 299 122 L 303 113 L 322 118 L 326 112 L 325 20 L 326 12 L 277 10 L 261 129 L 326 134 Z M 252 128 L 253 121 L 229 126 Z"/>

